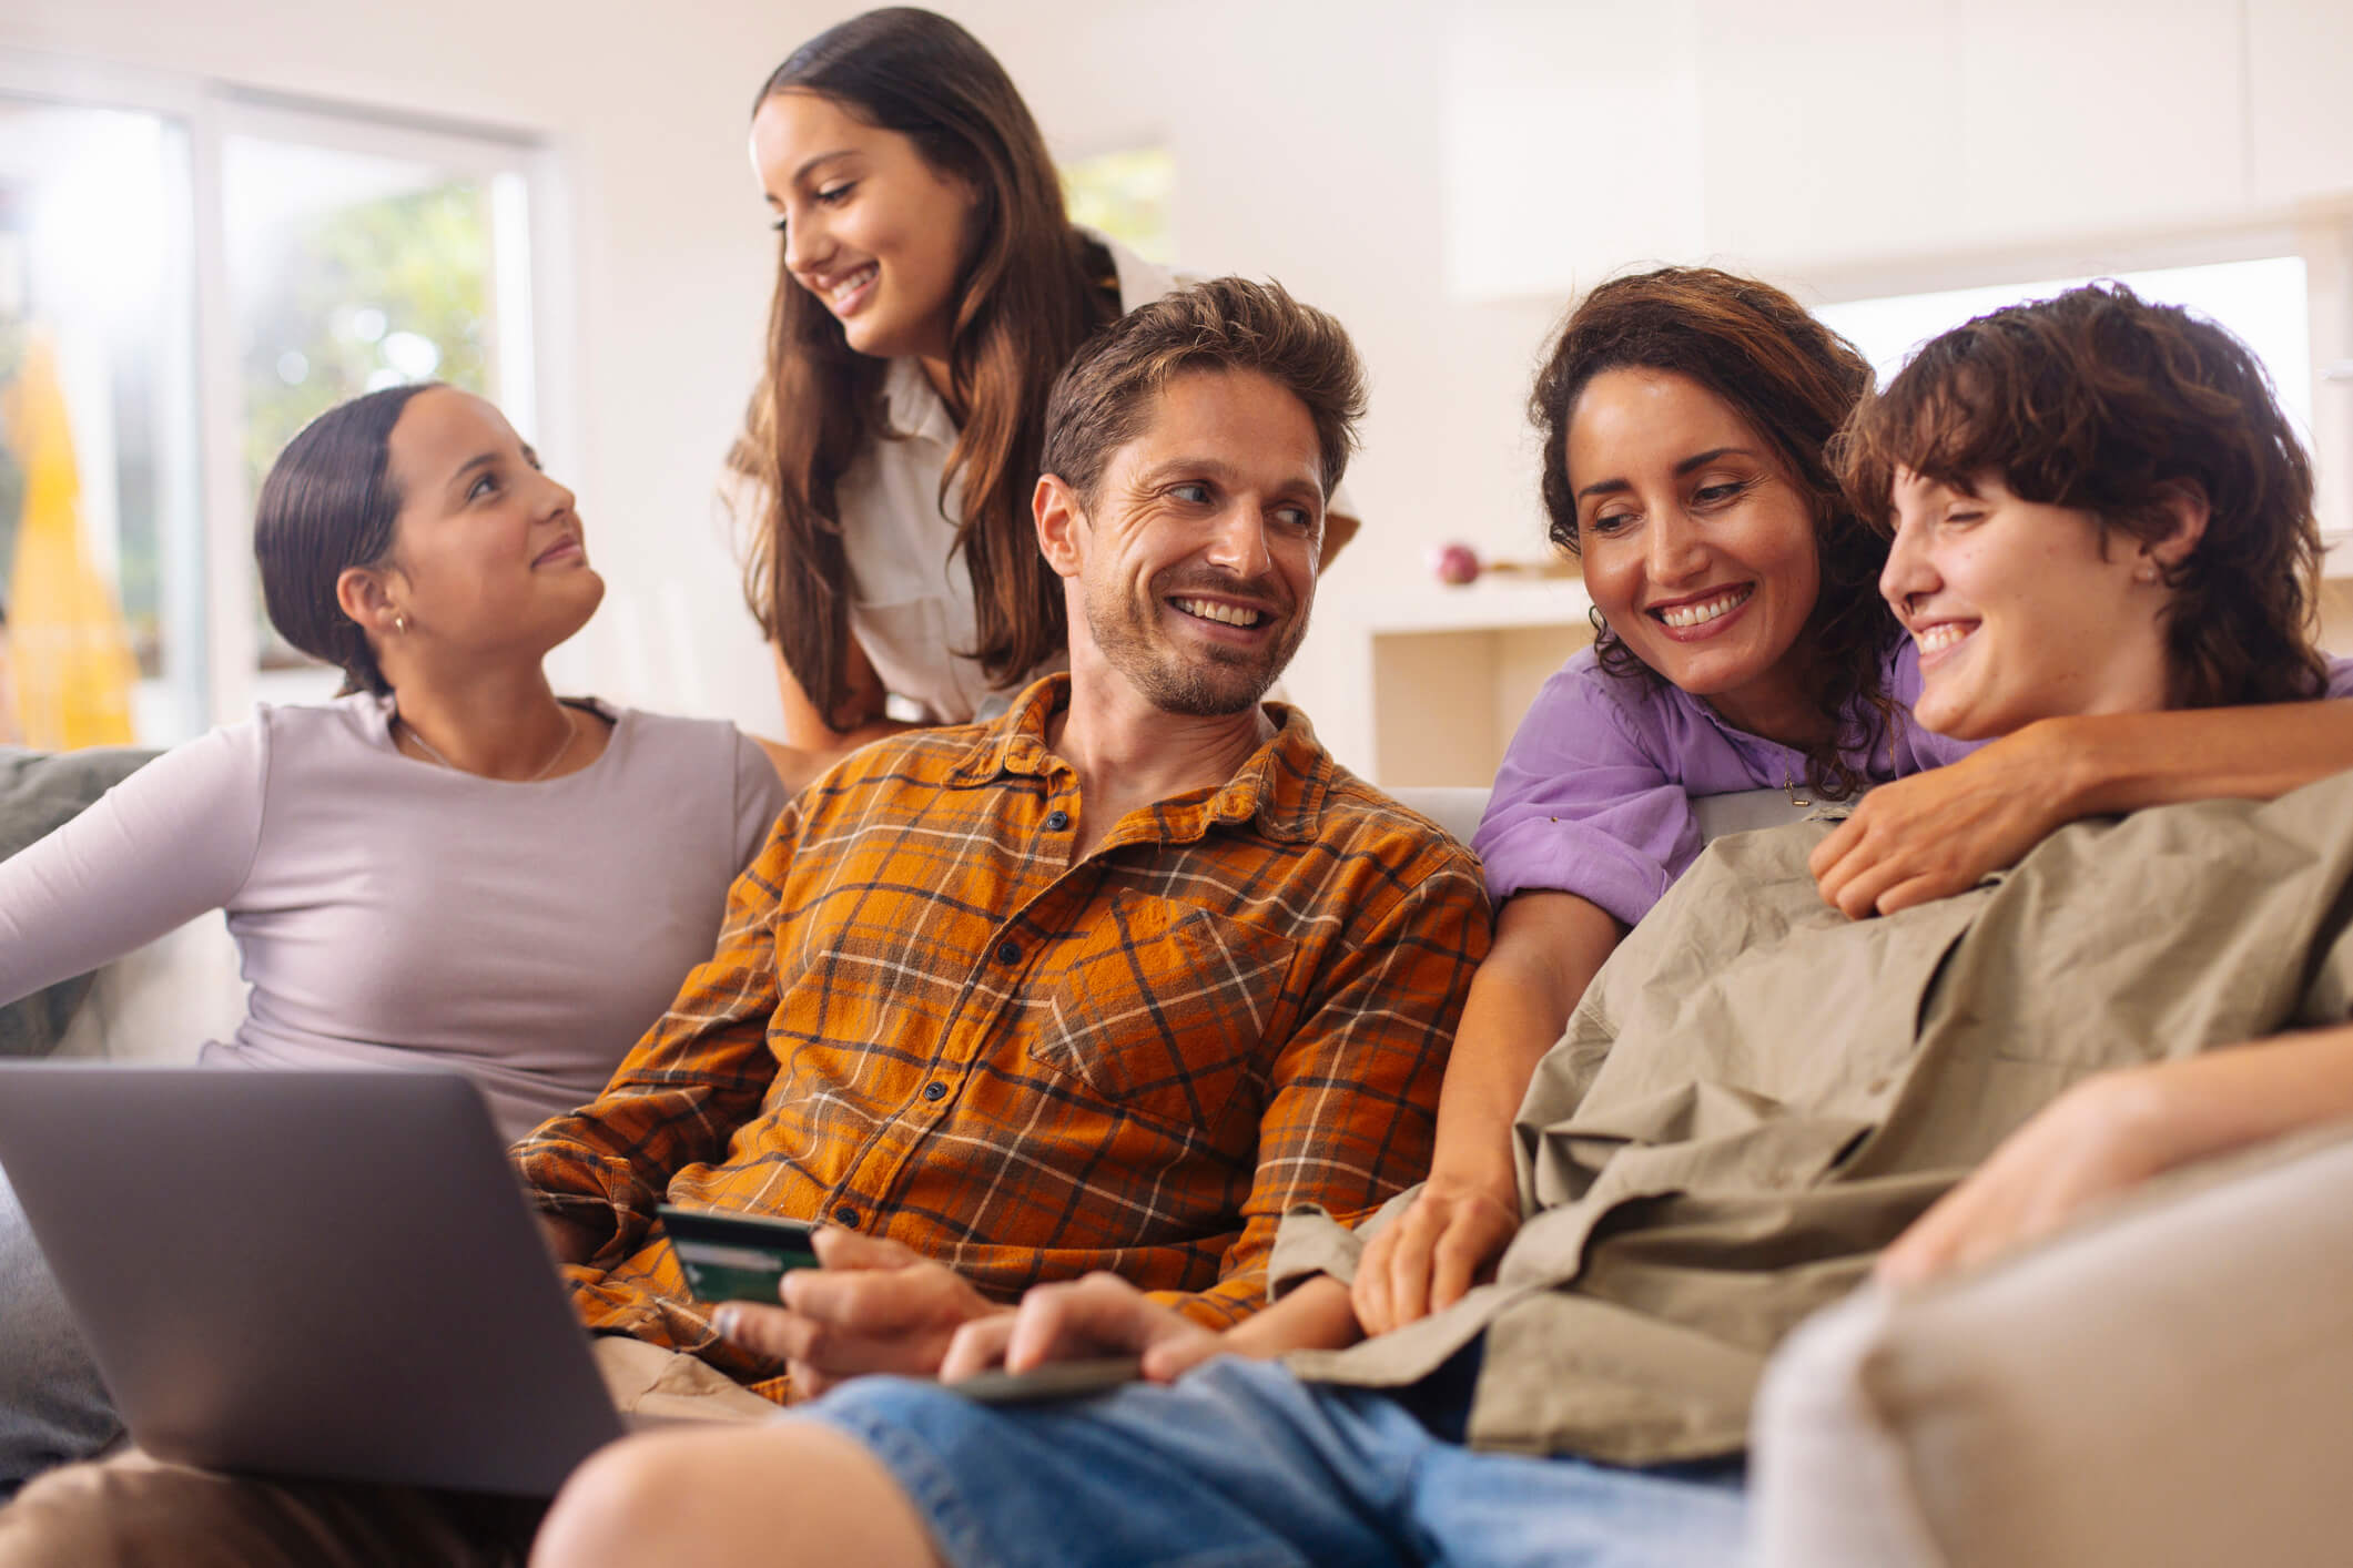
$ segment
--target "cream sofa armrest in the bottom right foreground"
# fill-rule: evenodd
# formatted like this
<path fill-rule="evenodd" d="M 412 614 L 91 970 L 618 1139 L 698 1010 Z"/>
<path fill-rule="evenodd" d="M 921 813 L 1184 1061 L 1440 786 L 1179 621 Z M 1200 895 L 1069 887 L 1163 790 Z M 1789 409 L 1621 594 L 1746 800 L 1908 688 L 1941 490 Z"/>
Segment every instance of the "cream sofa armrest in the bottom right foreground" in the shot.
<path fill-rule="evenodd" d="M 2346 1128 L 1906 1298 L 1861 1359 L 1951 1568 L 2344 1561 L 2348 1389 Z"/>

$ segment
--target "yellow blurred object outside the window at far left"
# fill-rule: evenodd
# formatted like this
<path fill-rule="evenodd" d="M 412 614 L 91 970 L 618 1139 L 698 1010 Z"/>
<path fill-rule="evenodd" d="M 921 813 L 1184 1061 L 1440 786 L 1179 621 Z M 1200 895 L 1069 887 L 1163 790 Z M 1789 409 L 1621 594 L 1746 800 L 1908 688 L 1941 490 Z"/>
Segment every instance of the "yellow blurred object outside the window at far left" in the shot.
<path fill-rule="evenodd" d="M 66 752 L 132 743 L 139 661 L 113 590 L 82 543 L 82 482 L 56 378 L 56 350 L 35 336 L 9 388 L 24 463 L 24 520 L 9 588 L 9 675 L 24 743 Z"/>

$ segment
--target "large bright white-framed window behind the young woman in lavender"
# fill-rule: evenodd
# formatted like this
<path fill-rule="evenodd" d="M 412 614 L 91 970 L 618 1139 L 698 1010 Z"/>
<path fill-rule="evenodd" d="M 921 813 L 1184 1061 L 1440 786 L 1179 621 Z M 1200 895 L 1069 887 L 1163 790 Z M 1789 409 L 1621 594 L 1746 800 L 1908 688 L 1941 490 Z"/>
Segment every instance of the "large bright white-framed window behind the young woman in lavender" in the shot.
<path fill-rule="evenodd" d="M 320 411 L 421 378 L 560 449 L 541 421 L 560 334 L 539 322 L 558 247 L 534 244 L 551 188 L 525 136 L 207 82 L 66 82 L 0 52 L 0 607 L 28 743 L 169 745 L 256 696 L 336 689 L 261 614 L 261 475 Z M 64 567 L 24 545 L 31 425 L 9 393 L 28 381 L 54 383 L 73 444 L 78 517 L 42 524 L 73 541 Z M 19 559 L 38 562 L 26 581 Z M 127 733 L 35 712 L 35 677 L 59 668 L 35 644 L 59 637 L 127 642 Z"/>

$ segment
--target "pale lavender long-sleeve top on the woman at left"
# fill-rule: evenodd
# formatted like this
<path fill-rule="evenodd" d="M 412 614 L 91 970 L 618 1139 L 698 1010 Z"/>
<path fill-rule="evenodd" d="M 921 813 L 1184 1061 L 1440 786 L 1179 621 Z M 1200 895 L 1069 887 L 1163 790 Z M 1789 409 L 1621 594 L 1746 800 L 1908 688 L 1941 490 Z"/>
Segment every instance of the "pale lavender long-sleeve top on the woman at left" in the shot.
<path fill-rule="evenodd" d="M 402 757 L 388 698 L 200 736 L 0 860 L 0 1001 L 226 910 L 252 992 L 207 1067 L 454 1067 L 520 1138 L 711 959 L 786 799 L 732 724 L 600 712 L 546 783 Z"/>

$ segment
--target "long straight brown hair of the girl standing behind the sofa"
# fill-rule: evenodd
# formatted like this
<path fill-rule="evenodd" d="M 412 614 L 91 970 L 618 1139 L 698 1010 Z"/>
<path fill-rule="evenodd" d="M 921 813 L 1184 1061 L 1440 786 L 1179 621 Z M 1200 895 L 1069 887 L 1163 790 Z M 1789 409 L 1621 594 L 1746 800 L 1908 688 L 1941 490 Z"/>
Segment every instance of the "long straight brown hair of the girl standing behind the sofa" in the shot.
<path fill-rule="evenodd" d="M 948 411 L 958 437 L 939 480 L 962 487 L 955 550 L 972 574 L 979 646 L 1005 686 L 1066 644 L 1061 583 L 1031 527 L 1045 397 L 1056 371 L 1115 294 L 1071 228 L 1045 136 L 1012 78 L 972 33 L 913 7 L 866 12 L 793 52 L 760 87 L 833 99 L 866 125 L 899 132 L 934 172 L 979 195 L 958 268 L 948 331 Z M 729 465 L 767 487 L 751 531 L 744 597 L 786 668 L 833 724 L 847 696 L 849 571 L 838 491 L 842 473 L 885 437 L 885 360 L 849 348 L 842 324 L 793 282 L 776 252 L 767 374 Z"/>

